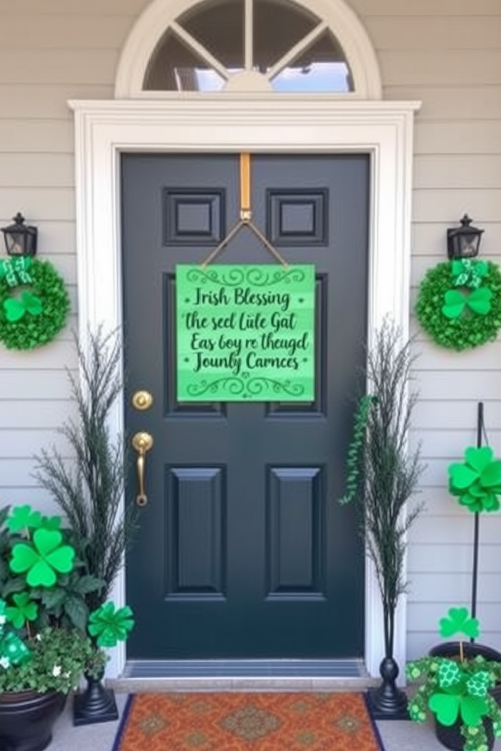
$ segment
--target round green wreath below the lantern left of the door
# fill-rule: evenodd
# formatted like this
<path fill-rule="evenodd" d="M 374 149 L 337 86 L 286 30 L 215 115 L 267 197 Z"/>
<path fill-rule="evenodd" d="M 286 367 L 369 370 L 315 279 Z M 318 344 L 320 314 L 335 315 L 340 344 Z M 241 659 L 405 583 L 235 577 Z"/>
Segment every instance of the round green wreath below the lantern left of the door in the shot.
<path fill-rule="evenodd" d="M 69 309 L 65 282 L 49 261 L 0 261 L 0 340 L 8 349 L 47 344 Z"/>

